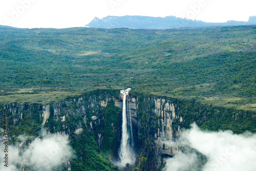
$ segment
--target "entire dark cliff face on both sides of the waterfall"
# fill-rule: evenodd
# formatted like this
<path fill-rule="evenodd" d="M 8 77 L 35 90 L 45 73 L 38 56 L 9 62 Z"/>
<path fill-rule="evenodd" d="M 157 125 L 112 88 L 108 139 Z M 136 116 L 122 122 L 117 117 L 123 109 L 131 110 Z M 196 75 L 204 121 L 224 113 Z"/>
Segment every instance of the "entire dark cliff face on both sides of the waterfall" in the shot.
<path fill-rule="evenodd" d="M 145 97 L 133 93 L 127 96 L 127 100 L 137 154 L 134 170 L 161 170 L 164 159 L 174 156 L 180 150 L 177 141 L 181 130 L 189 128 L 190 123 L 196 122 L 204 129 L 233 130 L 237 133 L 250 130 L 245 123 L 250 127 L 255 124 L 255 113 L 202 105 L 195 100 Z M 67 167 L 79 169 L 77 163 L 89 164 L 86 163 L 88 153 L 92 153 L 95 160 L 97 156 L 102 155 L 110 160 L 118 158 L 121 109 L 122 95 L 119 91 L 95 91 L 51 104 L 5 105 L 1 109 L 1 120 L 3 113 L 7 112 L 11 125 L 10 140 L 19 134 L 38 136 L 41 126 L 49 133 L 69 136 L 77 158 L 67 162 Z M 221 127 L 222 122 L 227 120 L 231 121 L 230 125 Z M 3 138 L 0 138 L 1 140 Z M 172 145 L 166 145 L 165 140 Z M 86 146 L 79 147 L 82 144 L 94 146 L 93 151 L 83 152 Z M 97 160 L 105 162 L 100 157 Z M 94 166 L 91 167 L 93 169 Z M 105 167 L 110 170 L 117 169 L 110 163 L 102 166 Z"/>

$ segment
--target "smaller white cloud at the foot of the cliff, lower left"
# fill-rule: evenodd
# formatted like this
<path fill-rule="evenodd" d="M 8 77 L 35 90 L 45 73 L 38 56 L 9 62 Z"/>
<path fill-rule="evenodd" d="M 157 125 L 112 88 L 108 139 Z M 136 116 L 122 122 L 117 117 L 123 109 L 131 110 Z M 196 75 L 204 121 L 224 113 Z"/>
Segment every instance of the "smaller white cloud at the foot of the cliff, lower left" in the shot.
<path fill-rule="evenodd" d="M 26 136 L 21 137 L 27 138 Z M 5 156 L 6 154 L 4 153 L 4 148 L 5 145 L 1 143 L 1 156 Z M 0 170 L 18 170 L 16 165 L 19 167 L 26 165 L 32 168 L 32 170 L 38 171 L 52 170 L 54 167 L 65 163 L 72 156 L 73 149 L 65 136 L 47 135 L 42 139 L 35 138 L 31 144 L 23 150 L 16 146 L 8 145 L 8 167 L 1 164 Z"/>

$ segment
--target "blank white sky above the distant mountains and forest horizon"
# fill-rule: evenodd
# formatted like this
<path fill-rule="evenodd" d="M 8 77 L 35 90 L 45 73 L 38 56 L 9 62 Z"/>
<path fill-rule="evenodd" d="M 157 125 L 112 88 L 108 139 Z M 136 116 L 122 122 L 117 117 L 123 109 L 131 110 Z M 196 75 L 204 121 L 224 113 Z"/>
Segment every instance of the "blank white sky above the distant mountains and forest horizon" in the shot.
<path fill-rule="evenodd" d="M 112 5 L 111 5 L 112 4 Z M 0 25 L 19 28 L 82 27 L 108 15 L 174 15 L 204 22 L 247 21 L 255 0 L 0 0 Z"/>

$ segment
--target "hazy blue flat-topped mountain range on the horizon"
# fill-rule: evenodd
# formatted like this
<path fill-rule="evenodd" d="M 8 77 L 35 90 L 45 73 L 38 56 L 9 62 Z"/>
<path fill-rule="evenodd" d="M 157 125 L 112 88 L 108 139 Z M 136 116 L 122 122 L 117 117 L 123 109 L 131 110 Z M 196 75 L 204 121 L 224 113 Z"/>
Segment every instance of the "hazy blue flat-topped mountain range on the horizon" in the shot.
<path fill-rule="evenodd" d="M 207 26 L 240 26 L 256 25 L 256 16 L 250 16 L 248 22 L 228 20 L 226 23 L 205 23 L 201 20 L 178 18 L 176 16 L 106 16 L 102 19 L 95 17 L 86 27 L 95 28 L 130 28 L 130 29 L 172 29 L 181 27 Z"/>

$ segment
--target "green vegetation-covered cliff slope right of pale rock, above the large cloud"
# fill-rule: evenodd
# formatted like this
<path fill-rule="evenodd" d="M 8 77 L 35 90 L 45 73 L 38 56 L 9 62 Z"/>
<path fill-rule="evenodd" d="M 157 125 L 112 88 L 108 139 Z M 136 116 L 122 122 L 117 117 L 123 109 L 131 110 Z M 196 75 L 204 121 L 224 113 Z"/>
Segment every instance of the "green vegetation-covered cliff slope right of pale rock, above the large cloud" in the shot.
<path fill-rule="evenodd" d="M 242 134 L 246 131 L 256 133 L 255 113 L 251 111 L 236 110 L 232 108 L 217 107 L 214 105 L 200 104 L 197 99 L 175 100 L 179 119 L 175 123 L 181 128 L 189 129 L 190 124 L 196 122 L 202 130 L 225 131 Z"/>

